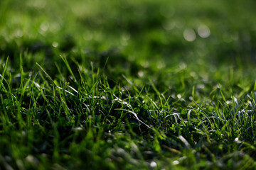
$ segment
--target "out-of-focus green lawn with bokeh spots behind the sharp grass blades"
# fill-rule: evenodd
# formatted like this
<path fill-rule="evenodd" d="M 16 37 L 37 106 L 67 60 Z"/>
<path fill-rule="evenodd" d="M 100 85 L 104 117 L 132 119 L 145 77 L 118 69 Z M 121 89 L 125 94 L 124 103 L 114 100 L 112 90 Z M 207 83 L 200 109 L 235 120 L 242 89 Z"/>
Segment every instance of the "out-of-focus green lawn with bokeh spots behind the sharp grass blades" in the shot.
<path fill-rule="evenodd" d="M 38 70 L 38 62 L 54 77 L 65 55 L 73 69 L 93 64 L 114 81 L 177 69 L 207 79 L 241 68 L 253 77 L 255 7 L 253 0 L 1 0 L 1 64 L 9 56 L 15 72 L 22 55 L 24 70 Z"/>

